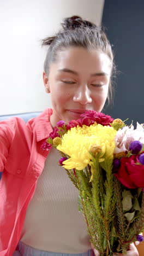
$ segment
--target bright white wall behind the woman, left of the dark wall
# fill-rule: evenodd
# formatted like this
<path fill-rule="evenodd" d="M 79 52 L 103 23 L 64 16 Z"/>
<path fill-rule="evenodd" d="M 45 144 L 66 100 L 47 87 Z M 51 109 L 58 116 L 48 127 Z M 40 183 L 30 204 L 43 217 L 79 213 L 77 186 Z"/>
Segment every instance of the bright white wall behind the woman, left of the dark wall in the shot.
<path fill-rule="evenodd" d="M 70 15 L 99 25 L 103 5 L 104 0 L 0 0 L 0 115 L 51 107 L 40 39 L 57 32 Z"/>

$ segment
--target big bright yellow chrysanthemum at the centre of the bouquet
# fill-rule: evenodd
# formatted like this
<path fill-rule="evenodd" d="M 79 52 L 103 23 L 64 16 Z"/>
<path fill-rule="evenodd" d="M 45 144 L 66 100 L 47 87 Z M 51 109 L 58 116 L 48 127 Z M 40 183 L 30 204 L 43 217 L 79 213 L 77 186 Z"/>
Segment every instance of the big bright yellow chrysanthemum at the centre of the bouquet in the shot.
<path fill-rule="evenodd" d="M 100 124 L 71 128 L 63 136 L 62 144 L 57 147 L 58 150 L 70 156 L 63 162 L 63 167 L 69 170 L 85 168 L 92 160 L 89 150 L 93 144 L 101 147 L 99 162 L 104 161 L 104 158 L 113 158 L 115 135 L 116 131 L 112 127 Z"/>

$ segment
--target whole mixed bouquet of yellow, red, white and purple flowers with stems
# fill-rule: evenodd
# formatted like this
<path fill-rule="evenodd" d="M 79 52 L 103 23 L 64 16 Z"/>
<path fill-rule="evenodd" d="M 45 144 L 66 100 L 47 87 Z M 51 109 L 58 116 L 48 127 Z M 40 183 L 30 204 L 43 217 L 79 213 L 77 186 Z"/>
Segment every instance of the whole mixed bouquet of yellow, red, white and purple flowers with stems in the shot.
<path fill-rule="evenodd" d="M 143 241 L 144 129 L 88 110 L 81 119 L 63 120 L 43 149 L 57 148 L 59 164 L 79 189 L 79 211 L 100 255 L 126 253 Z"/>

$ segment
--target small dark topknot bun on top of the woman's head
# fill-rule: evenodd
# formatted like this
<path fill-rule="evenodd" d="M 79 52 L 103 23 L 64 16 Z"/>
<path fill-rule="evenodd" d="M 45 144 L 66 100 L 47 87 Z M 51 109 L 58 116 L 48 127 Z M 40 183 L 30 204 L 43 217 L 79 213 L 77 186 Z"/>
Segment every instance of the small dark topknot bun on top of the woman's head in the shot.
<path fill-rule="evenodd" d="M 77 27 L 97 27 L 90 21 L 82 20 L 80 16 L 71 16 L 69 18 L 65 18 L 62 23 L 62 27 L 64 30 L 75 30 Z"/>

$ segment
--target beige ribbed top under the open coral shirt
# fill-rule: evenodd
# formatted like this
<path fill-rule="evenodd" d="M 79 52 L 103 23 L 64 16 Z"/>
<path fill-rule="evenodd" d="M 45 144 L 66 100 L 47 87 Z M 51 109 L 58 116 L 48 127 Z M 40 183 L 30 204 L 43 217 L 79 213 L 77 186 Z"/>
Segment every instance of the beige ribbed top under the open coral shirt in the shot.
<path fill-rule="evenodd" d="M 87 227 L 78 209 L 79 191 L 61 158 L 52 148 L 29 203 L 21 241 L 35 249 L 56 253 L 83 253 L 91 249 Z"/>

